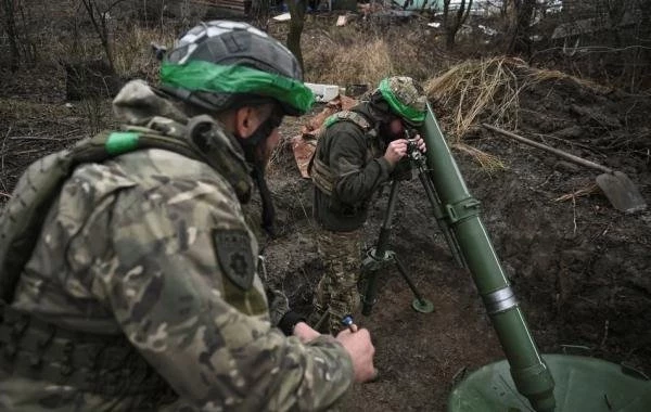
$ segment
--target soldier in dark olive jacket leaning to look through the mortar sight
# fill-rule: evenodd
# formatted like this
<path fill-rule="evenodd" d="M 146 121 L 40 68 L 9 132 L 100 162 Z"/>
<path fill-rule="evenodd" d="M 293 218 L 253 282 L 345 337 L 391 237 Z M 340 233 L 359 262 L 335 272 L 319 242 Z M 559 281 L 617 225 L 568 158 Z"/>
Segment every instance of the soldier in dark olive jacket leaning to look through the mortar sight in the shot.
<path fill-rule="evenodd" d="M 326 120 L 310 165 L 314 214 L 321 227 L 317 246 L 324 265 L 310 321 L 323 320 L 323 332 L 335 334 L 342 318 L 360 306 L 357 283 L 369 202 L 391 179 L 411 176 L 400 162 L 407 153 L 405 130 L 423 123 L 425 108 L 422 88 L 395 76 L 383 79 L 369 101 Z M 420 136 L 412 138 L 424 152 Z"/>

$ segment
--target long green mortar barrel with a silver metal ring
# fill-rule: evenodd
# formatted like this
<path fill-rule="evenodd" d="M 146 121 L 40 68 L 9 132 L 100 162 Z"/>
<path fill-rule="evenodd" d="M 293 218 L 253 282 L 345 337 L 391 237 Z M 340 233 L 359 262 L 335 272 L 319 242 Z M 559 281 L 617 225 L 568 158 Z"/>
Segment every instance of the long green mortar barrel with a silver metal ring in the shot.
<path fill-rule="evenodd" d="M 468 191 L 429 105 L 421 134 L 427 145 L 425 155 L 431 179 L 490 317 L 515 387 L 529 400 L 534 410 L 553 411 L 553 378 L 538 352 L 513 289 L 480 219 L 480 203 Z"/>

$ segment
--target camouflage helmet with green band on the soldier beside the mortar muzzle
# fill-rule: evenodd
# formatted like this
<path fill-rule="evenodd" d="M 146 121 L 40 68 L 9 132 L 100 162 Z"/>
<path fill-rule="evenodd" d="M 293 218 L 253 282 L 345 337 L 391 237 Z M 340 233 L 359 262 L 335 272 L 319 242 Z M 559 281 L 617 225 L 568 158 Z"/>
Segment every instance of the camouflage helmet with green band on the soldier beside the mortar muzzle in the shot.
<path fill-rule="evenodd" d="M 425 119 L 427 98 L 411 77 L 393 76 L 382 79 L 374 93 L 388 103 L 390 111 L 411 126 L 420 126 Z"/>

